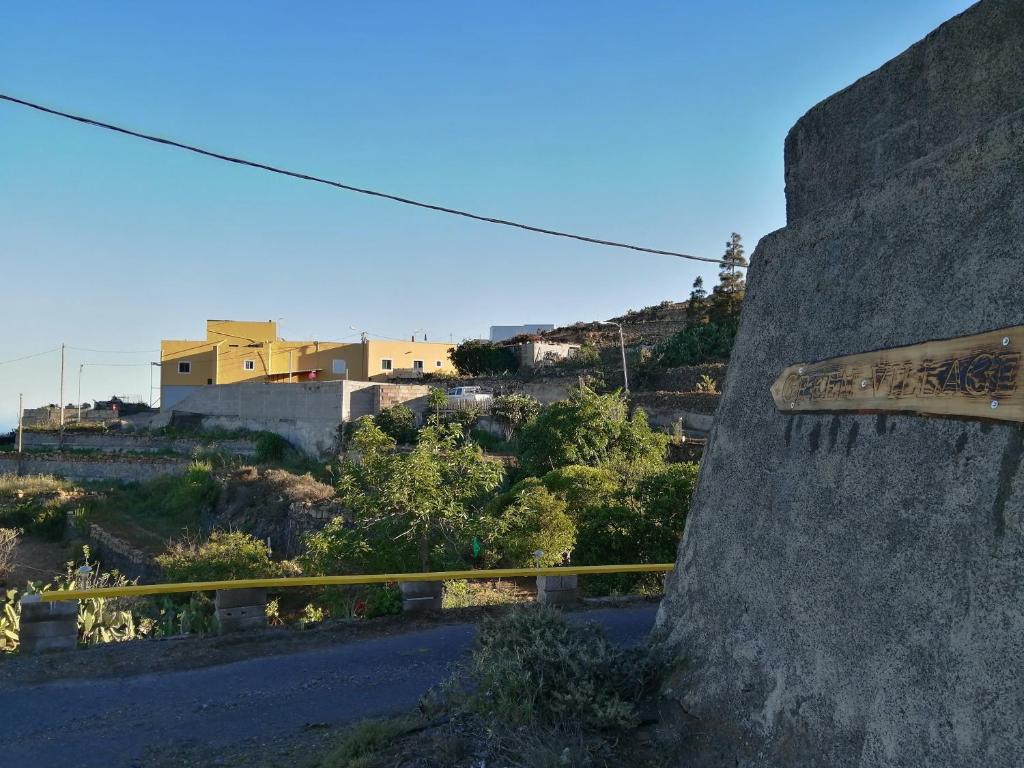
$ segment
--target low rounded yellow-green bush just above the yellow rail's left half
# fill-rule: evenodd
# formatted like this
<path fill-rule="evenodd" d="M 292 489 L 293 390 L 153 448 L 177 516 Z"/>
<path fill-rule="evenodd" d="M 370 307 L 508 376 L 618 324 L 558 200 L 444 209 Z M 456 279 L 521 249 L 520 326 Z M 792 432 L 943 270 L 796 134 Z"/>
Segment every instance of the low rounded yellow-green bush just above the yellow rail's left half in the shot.
<path fill-rule="evenodd" d="M 214 531 L 206 542 L 179 540 L 158 555 L 170 582 L 217 582 L 281 574 L 265 543 L 241 531 Z"/>

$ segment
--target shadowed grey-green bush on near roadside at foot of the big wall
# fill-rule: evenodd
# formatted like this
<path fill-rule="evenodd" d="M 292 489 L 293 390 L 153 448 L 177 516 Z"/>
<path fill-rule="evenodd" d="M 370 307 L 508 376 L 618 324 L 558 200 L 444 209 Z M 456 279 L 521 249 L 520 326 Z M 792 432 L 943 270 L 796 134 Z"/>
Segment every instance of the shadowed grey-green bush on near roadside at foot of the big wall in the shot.
<path fill-rule="evenodd" d="M 642 651 L 535 605 L 484 618 L 468 666 L 436 695 L 453 714 L 506 727 L 629 727 L 650 679 Z"/>

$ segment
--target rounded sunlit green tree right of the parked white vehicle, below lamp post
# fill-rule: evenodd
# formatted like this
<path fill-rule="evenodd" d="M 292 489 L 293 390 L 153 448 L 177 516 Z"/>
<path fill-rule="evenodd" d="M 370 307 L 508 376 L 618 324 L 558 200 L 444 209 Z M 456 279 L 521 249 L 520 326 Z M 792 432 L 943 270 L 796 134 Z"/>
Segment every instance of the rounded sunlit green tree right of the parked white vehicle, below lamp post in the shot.
<path fill-rule="evenodd" d="M 566 399 L 547 406 L 522 428 L 522 468 L 541 475 L 570 464 L 626 467 L 664 462 L 668 437 L 650 428 L 642 411 L 632 418 L 628 412 L 622 393 L 573 388 Z"/>

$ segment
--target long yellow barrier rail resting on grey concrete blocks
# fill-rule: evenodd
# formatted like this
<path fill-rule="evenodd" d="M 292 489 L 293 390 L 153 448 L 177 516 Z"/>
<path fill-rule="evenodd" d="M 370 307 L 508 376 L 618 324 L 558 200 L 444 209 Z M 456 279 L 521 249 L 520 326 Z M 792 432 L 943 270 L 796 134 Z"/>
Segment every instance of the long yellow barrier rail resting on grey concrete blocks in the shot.
<path fill-rule="evenodd" d="M 286 577 L 283 579 L 236 579 L 226 582 L 190 584 L 139 584 L 133 587 L 103 587 L 92 590 L 43 592 L 44 602 L 86 600 L 90 597 L 139 597 L 175 592 L 212 592 L 214 590 L 282 589 L 289 587 L 329 587 L 339 584 L 386 584 L 388 582 L 452 582 L 476 579 L 512 579 L 539 575 L 586 575 L 588 573 L 659 573 L 672 570 L 675 563 L 636 565 L 569 565 L 556 568 L 496 568 L 494 570 L 439 570 L 430 573 L 369 573 L 340 577 Z"/>

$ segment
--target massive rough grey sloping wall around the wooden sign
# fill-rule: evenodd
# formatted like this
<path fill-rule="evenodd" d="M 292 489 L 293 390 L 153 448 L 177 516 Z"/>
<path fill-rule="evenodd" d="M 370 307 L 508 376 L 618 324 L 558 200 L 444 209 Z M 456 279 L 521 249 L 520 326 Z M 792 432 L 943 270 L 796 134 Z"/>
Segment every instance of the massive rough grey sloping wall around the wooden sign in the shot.
<path fill-rule="evenodd" d="M 655 629 L 687 766 L 1021 765 L 1021 426 L 790 416 L 769 387 L 796 361 L 1024 324 L 1022 45 L 1024 0 L 983 2 L 794 128 L 845 126 L 787 153 L 800 215 L 752 258 Z M 981 71 L 997 97 L 966 87 Z M 933 139 L 900 162 L 911 118 Z M 833 194 L 843 153 L 862 183 Z"/>

